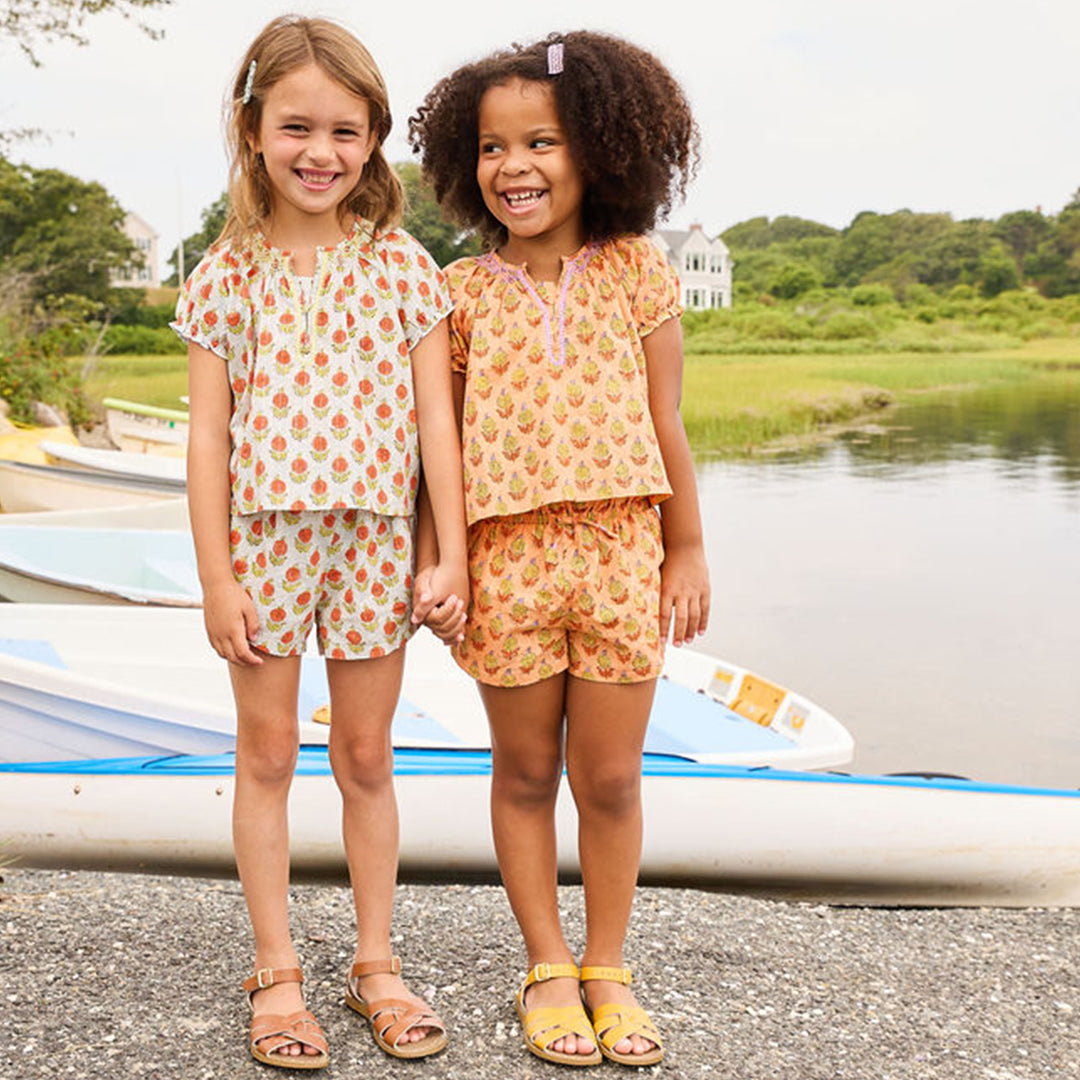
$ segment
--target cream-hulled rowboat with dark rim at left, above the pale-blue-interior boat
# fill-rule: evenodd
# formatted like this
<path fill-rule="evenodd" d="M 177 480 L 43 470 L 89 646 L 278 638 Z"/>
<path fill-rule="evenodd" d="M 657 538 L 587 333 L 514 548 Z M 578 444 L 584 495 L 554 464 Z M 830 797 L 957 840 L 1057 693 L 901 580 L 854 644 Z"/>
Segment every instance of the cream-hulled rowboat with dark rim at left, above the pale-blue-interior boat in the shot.
<path fill-rule="evenodd" d="M 183 495 L 183 487 L 153 480 L 0 461 L 0 509 L 4 513 L 130 507 Z"/>

